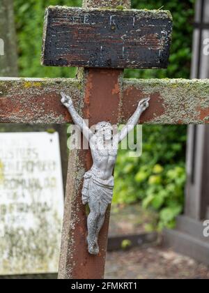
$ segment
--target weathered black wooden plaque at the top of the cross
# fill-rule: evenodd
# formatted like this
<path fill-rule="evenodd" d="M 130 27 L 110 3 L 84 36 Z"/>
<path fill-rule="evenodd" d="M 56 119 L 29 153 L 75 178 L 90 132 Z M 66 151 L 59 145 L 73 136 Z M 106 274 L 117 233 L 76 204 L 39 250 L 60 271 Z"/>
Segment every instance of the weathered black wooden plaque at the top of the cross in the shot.
<path fill-rule="evenodd" d="M 42 64 L 100 68 L 167 68 L 172 17 L 164 10 L 50 6 Z"/>

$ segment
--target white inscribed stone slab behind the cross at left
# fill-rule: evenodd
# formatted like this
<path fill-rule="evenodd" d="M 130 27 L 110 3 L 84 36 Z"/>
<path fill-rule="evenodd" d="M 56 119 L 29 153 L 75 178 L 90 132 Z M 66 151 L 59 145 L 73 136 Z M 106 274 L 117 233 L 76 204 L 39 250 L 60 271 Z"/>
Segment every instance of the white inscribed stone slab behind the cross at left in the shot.
<path fill-rule="evenodd" d="M 0 275 L 56 272 L 62 218 L 58 133 L 0 133 Z"/>

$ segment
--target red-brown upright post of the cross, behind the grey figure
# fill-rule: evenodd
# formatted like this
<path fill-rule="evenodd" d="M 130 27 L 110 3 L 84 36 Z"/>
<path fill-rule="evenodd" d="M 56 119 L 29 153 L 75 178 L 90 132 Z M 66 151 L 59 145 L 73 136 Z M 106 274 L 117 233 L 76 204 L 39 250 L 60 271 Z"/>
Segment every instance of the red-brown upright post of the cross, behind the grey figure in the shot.
<path fill-rule="evenodd" d="M 84 7 L 116 8 L 123 1 L 88 0 Z M 124 5 L 130 8 L 130 1 Z M 88 119 L 89 126 L 100 121 L 117 123 L 120 115 L 123 70 L 89 68 L 82 72 L 84 79 L 84 105 L 82 116 Z M 65 196 L 65 213 L 61 243 L 59 278 L 61 279 L 101 279 L 104 277 L 109 211 L 100 231 L 100 254 L 88 253 L 86 236 L 86 209 L 82 204 L 84 172 L 92 165 L 91 152 L 77 150 L 70 152 L 68 180 Z"/>

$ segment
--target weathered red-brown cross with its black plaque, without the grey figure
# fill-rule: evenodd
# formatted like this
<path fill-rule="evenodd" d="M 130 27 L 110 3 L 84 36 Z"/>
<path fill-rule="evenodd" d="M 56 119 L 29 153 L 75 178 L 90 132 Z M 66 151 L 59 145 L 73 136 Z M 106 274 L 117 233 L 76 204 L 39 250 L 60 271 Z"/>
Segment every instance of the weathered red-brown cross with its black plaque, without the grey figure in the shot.
<path fill-rule="evenodd" d="M 127 10 L 117 9 L 121 2 Z M 116 9 L 95 9 L 105 7 Z M 130 0 L 84 0 L 84 9 L 50 7 L 42 63 L 85 68 L 78 71 L 77 79 L 1 79 L 0 122 L 72 123 L 60 101 L 64 91 L 90 126 L 99 121 L 126 123 L 147 95 L 150 107 L 142 123 L 208 123 L 208 80 L 123 78 L 122 68 L 166 67 L 171 42 L 168 12 L 128 8 Z M 100 255 L 89 255 L 86 245 L 81 192 L 84 172 L 91 164 L 90 151 L 70 152 L 59 278 L 104 276 L 109 210 L 100 232 Z"/>

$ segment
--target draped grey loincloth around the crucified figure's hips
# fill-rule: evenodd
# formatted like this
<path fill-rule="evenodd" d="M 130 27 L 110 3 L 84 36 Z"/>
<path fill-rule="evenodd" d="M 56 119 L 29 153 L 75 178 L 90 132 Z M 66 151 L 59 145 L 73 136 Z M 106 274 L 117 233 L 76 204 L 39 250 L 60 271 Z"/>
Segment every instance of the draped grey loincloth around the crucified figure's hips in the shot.
<path fill-rule="evenodd" d="M 111 204 L 114 189 L 114 177 L 102 180 L 88 171 L 84 175 L 84 186 L 82 190 L 82 202 L 87 204 L 89 198 L 93 197 L 102 204 Z"/>

